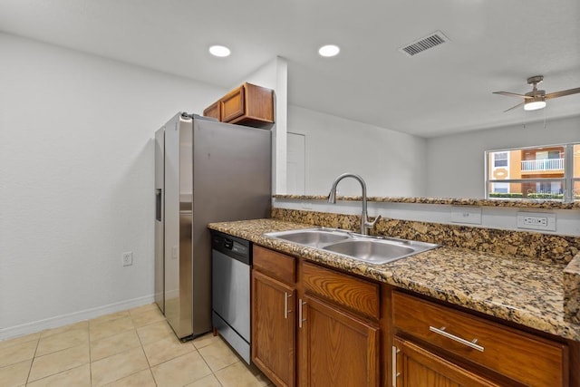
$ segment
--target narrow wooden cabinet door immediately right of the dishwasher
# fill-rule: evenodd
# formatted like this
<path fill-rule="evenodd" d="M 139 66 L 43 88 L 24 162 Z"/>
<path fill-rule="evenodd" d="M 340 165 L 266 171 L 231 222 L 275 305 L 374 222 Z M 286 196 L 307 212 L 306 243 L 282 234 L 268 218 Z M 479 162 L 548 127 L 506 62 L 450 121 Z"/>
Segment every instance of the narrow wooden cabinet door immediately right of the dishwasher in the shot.
<path fill-rule="evenodd" d="M 252 361 L 278 387 L 295 385 L 295 288 L 252 271 Z"/>

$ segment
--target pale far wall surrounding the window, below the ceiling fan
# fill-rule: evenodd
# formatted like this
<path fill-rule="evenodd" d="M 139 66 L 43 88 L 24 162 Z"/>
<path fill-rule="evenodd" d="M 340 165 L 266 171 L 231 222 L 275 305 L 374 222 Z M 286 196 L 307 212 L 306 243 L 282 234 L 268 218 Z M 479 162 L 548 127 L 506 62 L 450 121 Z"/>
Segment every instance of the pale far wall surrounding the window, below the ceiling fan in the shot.
<path fill-rule="evenodd" d="M 428 139 L 427 196 L 483 198 L 486 150 L 577 141 L 580 116 L 547 120 L 546 128 L 541 121 Z"/>

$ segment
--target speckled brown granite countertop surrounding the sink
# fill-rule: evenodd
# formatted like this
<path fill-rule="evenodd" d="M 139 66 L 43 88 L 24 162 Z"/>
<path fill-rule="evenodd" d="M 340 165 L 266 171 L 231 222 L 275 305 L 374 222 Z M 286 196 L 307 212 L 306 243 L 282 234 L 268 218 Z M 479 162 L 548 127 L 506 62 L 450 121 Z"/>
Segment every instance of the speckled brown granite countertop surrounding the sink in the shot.
<path fill-rule="evenodd" d="M 276 219 L 211 223 L 208 226 L 287 254 L 464 306 L 548 334 L 580 341 L 580 324 L 564 318 L 563 272 L 566 266 L 512 258 L 469 249 L 439 247 L 384 265 L 368 265 L 267 232 L 312 225 Z M 573 264 L 580 262 L 576 256 Z"/>

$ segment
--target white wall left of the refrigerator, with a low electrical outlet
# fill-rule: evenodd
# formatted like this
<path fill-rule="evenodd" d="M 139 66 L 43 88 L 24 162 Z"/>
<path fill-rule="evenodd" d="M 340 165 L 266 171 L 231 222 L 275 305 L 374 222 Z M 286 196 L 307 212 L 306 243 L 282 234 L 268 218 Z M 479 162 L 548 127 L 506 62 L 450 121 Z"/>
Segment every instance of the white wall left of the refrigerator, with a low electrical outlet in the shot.
<path fill-rule="evenodd" d="M 0 340 L 152 302 L 153 132 L 227 90 L 8 34 L 0 53 Z"/>

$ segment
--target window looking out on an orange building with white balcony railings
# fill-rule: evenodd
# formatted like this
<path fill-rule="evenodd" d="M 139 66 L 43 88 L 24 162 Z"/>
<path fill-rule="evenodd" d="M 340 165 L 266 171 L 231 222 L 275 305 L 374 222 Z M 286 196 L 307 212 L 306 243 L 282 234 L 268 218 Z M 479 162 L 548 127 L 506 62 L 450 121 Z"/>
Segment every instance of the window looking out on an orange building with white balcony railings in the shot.
<path fill-rule="evenodd" d="M 580 143 L 486 151 L 486 198 L 580 200 Z"/>

